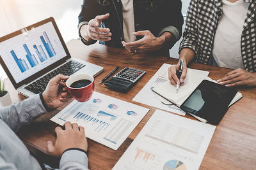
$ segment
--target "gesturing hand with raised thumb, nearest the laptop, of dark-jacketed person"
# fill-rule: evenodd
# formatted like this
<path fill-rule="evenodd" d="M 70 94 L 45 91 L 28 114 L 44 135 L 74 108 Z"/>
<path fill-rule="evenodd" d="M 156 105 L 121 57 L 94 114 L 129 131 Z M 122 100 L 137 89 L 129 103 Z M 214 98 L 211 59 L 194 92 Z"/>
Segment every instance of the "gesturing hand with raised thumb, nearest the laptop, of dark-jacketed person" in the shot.
<path fill-rule="evenodd" d="M 81 36 L 84 39 L 88 38 L 99 41 L 109 41 L 111 40 L 110 36 L 112 35 L 109 28 L 100 28 L 102 20 L 106 20 L 109 17 L 109 13 L 105 15 L 97 15 L 94 19 L 90 20 L 88 25 L 83 25 L 81 27 Z M 83 34 L 86 33 L 86 35 Z M 86 39 L 86 40 L 90 40 Z"/>

